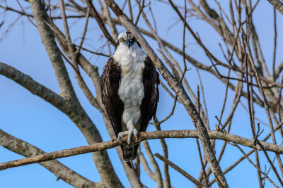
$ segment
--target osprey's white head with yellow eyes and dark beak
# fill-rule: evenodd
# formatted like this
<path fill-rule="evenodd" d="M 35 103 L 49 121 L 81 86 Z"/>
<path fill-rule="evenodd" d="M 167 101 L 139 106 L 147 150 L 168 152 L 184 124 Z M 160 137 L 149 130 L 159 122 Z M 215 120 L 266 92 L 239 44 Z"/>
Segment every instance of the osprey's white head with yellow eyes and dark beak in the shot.
<path fill-rule="evenodd" d="M 123 32 L 118 35 L 117 46 L 116 47 L 127 47 L 128 49 L 132 46 L 132 48 L 141 48 L 137 39 L 134 38 L 131 32 Z"/>

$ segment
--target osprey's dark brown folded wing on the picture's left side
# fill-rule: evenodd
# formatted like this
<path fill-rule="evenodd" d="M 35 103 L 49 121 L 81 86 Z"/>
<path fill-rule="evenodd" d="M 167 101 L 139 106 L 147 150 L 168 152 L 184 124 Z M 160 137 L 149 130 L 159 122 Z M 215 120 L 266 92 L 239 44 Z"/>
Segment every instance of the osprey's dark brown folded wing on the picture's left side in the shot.
<path fill-rule="evenodd" d="M 122 113 L 124 104 L 118 95 L 119 83 L 121 79 L 120 65 L 115 63 L 111 57 L 103 68 L 100 77 L 102 102 L 110 118 L 111 125 L 116 137 L 122 128 Z"/>

